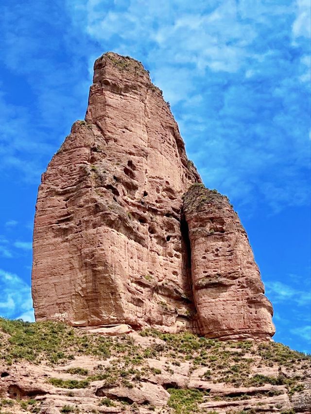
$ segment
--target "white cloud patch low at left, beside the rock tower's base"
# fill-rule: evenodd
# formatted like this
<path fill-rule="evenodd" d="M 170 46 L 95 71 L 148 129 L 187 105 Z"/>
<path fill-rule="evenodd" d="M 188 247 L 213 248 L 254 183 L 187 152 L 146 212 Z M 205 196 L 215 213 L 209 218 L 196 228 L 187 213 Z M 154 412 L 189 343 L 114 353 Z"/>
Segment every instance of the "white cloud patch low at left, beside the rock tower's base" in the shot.
<path fill-rule="evenodd" d="M 16 274 L 0 269 L 0 291 L 0 316 L 31 319 L 33 302 L 26 282 Z"/>

